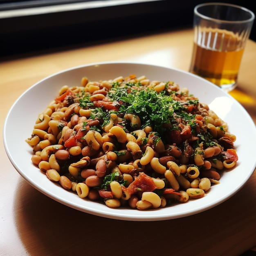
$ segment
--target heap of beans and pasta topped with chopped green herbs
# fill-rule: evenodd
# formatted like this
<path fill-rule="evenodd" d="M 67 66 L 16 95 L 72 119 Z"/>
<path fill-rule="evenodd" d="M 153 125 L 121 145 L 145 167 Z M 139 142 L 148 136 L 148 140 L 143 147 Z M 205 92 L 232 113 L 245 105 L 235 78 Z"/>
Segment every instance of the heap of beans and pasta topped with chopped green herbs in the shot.
<path fill-rule="evenodd" d="M 64 189 L 145 210 L 203 197 L 236 165 L 235 140 L 186 88 L 130 75 L 63 86 L 26 141 Z"/>

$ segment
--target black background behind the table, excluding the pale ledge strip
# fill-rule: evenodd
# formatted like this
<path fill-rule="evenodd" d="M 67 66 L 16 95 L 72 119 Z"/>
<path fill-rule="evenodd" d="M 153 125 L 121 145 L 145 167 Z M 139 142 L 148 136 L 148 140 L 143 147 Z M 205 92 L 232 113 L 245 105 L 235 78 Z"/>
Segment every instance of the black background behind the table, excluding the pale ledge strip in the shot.
<path fill-rule="evenodd" d="M 18 8 L 19 4 L 21 8 L 22 4 L 25 6 L 22 3 L 24 1 L 12 5 L 8 5 L 7 2 L 13 1 L 0 1 L 0 11 L 7 7 Z M 25 4 L 30 2 L 40 5 L 40 1 L 26 1 Z M 0 18 L 0 58 L 192 28 L 193 8 L 203 2 L 212 1 L 161 0 L 36 16 Z M 254 1 L 251 0 L 222 2 L 238 4 L 256 13 Z M 253 25 L 250 38 L 256 40 L 256 24 Z"/>

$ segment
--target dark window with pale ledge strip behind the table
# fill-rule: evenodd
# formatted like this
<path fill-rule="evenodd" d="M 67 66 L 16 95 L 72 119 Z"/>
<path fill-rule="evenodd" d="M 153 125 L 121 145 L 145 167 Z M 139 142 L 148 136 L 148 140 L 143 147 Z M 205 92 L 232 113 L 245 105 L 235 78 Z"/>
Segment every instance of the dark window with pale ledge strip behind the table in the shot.
<path fill-rule="evenodd" d="M 211 0 L 0 0 L 0 57 L 192 28 L 201 2 Z"/>

